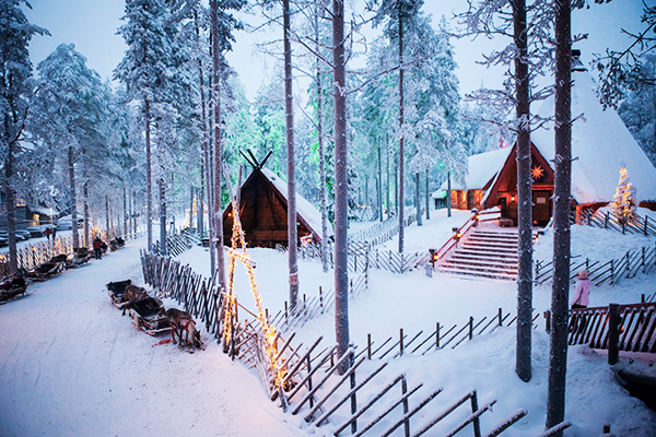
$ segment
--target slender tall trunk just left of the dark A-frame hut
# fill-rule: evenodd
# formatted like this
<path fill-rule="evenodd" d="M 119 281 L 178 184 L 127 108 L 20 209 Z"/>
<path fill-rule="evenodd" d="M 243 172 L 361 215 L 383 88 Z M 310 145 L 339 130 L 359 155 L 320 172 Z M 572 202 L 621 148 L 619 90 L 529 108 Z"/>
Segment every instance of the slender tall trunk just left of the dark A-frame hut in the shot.
<path fill-rule="evenodd" d="M 223 250 L 223 214 L 221 211 L 221 63 L 219 59 L 219 5 L 211 0 L 212 9 L 212 63 L 214 73 L 214 233 L 216 234 L 216 269 L 219 283 L 225 290 L 225 257 Z"/>

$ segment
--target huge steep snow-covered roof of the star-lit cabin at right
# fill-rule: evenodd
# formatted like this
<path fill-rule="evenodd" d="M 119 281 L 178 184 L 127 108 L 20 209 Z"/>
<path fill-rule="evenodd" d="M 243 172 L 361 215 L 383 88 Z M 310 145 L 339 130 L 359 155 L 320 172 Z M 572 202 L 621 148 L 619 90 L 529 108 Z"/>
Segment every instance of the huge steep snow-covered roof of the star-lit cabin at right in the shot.
<path fill-rule="evenodd" d="M 572 79 L 572 118 L 582 114 L 585 118 L 572 126 L 572 197 L 578 203 L 612 200 L 620 168 L 625 167 L 636 199 L 656 200 L 656 168 L 620 116 L 612 109 L 604 110 L 587 71 L 574 71 Z M 554 114 L 553 96 L 544 101 L 537 114 L 542 117 Z M 532 132 L 531 141 L 553 167 L 553 123 L 547 130 Z M 471 168 L 469 172 L 473 173 Z"/>

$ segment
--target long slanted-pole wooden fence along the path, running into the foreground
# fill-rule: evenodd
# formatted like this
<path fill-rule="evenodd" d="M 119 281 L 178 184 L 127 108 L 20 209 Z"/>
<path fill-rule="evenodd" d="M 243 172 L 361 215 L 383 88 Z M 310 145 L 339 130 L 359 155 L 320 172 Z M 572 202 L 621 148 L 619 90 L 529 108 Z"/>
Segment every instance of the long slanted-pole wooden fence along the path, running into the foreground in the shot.
<path fill-rule="evenodd" d="M 215 290 L 213 280 L 208 282 L 194 273 L 188 265 L 183 267 L 176 260 L 150 252 L 141 251 L 141 261 L 145 282 L 156 288 L 159 295 L 184 303 L 189 312 L 206 323 L 208 332 L 225 343 L 222 333 L 226 329 L 224 326 L 226 321 L 223 316 L 226 307 L 231 305 L 231 299 L 223 298 L 224 295 Z M 304 298 L 305 305 L 298 312 L 328 310 L 329 305 L 332 305 L 328 304 L 332 302 L 331 296 L 328 295 L 324 296 L 320 292 L 318 304 Z M 235 309 L 237 305 L 235 303 Z M 494 319 L 484 327 L 481 324 L 485 319 L 477 324 L 473 324 L 470 319 L 466 335 L 473 335 L 476 331 L 482 333 L 494 323 L 503 324 L 508 315 L 503 317 L 503 311 L 500 311 L 499 317 L 501 321 Z M 442 392 L 442 388 L 420 391 L 423 385 L 410 386 L 411 381 L 405 374 L 384 371 L 387 362 L 366 359 L 367 357 L 360 356 L 362 353 L 356 354 L 355 349 L 349 350 L 338 358 L 336 345 L 323 350 L 318 347 L 321 338 L 302 349 L 302 344 L 293 345 L 295 336 L 293 331 L 286 338 L 281 331 L 276 332 L 273 340 L 276 347 L 271 351 L 268 349 L 261 326 L 255 317 L 250 322 L 246 320 L 239 322 L 238 317 L 231 317 L 227 320 L 232 335 L 230 343 L 224 344 L 223 351 L 231 354 L 233 359 L 238 358 L 245 365 L 255 368 L 269 398 L 280 402 L 285 412 L 294 415 L 302 414 L 305 422 L 317 427 L 326 427 L 335 436 L 339 436 L 348 428 L 354 436 L 364 434 L 388 436 L 401 426 L 406 436 L 421 436 L 435 426 L 442 426 L 445 436 L 454 436 L 467 428 L 475 437 L 480 437 L 482 435 L 480 416 L 491 411 L 496 402 L 491 400 L 479 406 L 478 393 L 475 389 L 470 389 L 459 399 L 442 402 L 441 405 L 435 406 L 438 402 L 434 400 L 440 400 L 437 395 Z M 512 322 L 513 320 L 508 324 Z M 448 333 L 444 335 L 437 333 L 437 342 L 446 335 Z M 457 334 L 438 346 L 445 347 L 453 341 L 460 342 L 457 340 Z M 344 367 L 345 371 L 340 376 L 338 370 Z M 365 387 L 367 389 L 363 390 Z M 413 408 L 410 408 L 411 400 L 415 400 L 412 403 Z M 433 405 L 435 412 L 430 411 L 430 405 Z M 429 418 L 419 418 L 420 412 L 422 417 Z M 526 414 L 524 409 L 516 411 L 485 435 L 489 437 L 501 435 Z M 445 424 L 447 417 L 448 425 Z M 564 429 L 569 424 L 563 423 L 558 426 Z"/>

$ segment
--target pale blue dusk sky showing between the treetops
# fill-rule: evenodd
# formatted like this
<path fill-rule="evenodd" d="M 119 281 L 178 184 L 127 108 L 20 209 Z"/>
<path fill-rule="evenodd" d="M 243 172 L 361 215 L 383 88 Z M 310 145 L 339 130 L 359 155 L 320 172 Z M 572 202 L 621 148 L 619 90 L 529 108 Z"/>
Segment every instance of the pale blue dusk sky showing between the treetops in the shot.
<path fill-rule="evenodd" d="M 587 64 L 593 52 L 604 52 L 606 48 L 623 49 L 628 38 L 621 35 L 621 28 L 643 28 L 640 17 L 642 2 L 640 0 L 613 0 L 606 4 L 595 4 L 589 1 L 589 9 L 573 12 L 573 34 L 587 33 L 587 40 L 576 44 L 583 52 Z M 648 0 L 647 4 L 654 4 Z M 96 70 L 103 79 L 112 79 L 113 70 L 124 56 L 126 45 L 121 36 L 116 35 L 122 24 L 124 0 L 31 0 L 33 10 L 26 10 L 28 20 L 46 27 L 52 36 L 35 36 L 30 45 L 32 59 L 36 64 L 45 59 L 59 44 L 73 43 L 75 49 L 87 58 L 89 67 Z M 352 2 L 351 2 L 352 3 Z M 424 12 L 433 15 L 433 22 L 442 15 L 447 19 L 453 12 L 462 12 L 467 8 L 465 0 L 443 2 L 426 0 Z M 353 11 L 351 4 L 350 11 Z M 242 14 L 244 22 L 253 23 L 258 17 Z M 452 21 L 452 26 L 456 26 Z M 260 40 L 279 38 L 280 29 L 249 34 L 241 31 L 235 34 L 236 44 L 233 52 L 227 55 L 229 62 L 239 74 L 247 96 L 254 97 L 265 78 L 265 71 L 272 76 L 277 74 L 276 62 L 257 54 L 255 44 Z M 503 47 L 505 40 L 487 40 L 468 38 L 454 40 L 455 59 L 459 69 L 456 70 L 460 80 L 460 91 L 470 92 L 483 83 L 488 87 L 497 86 L 502 71 L 490 71 L 476 64 L 482 59 L 481 54 L 493 48 Z M 356 67 L 356 66 L 355 66 Z"/>

